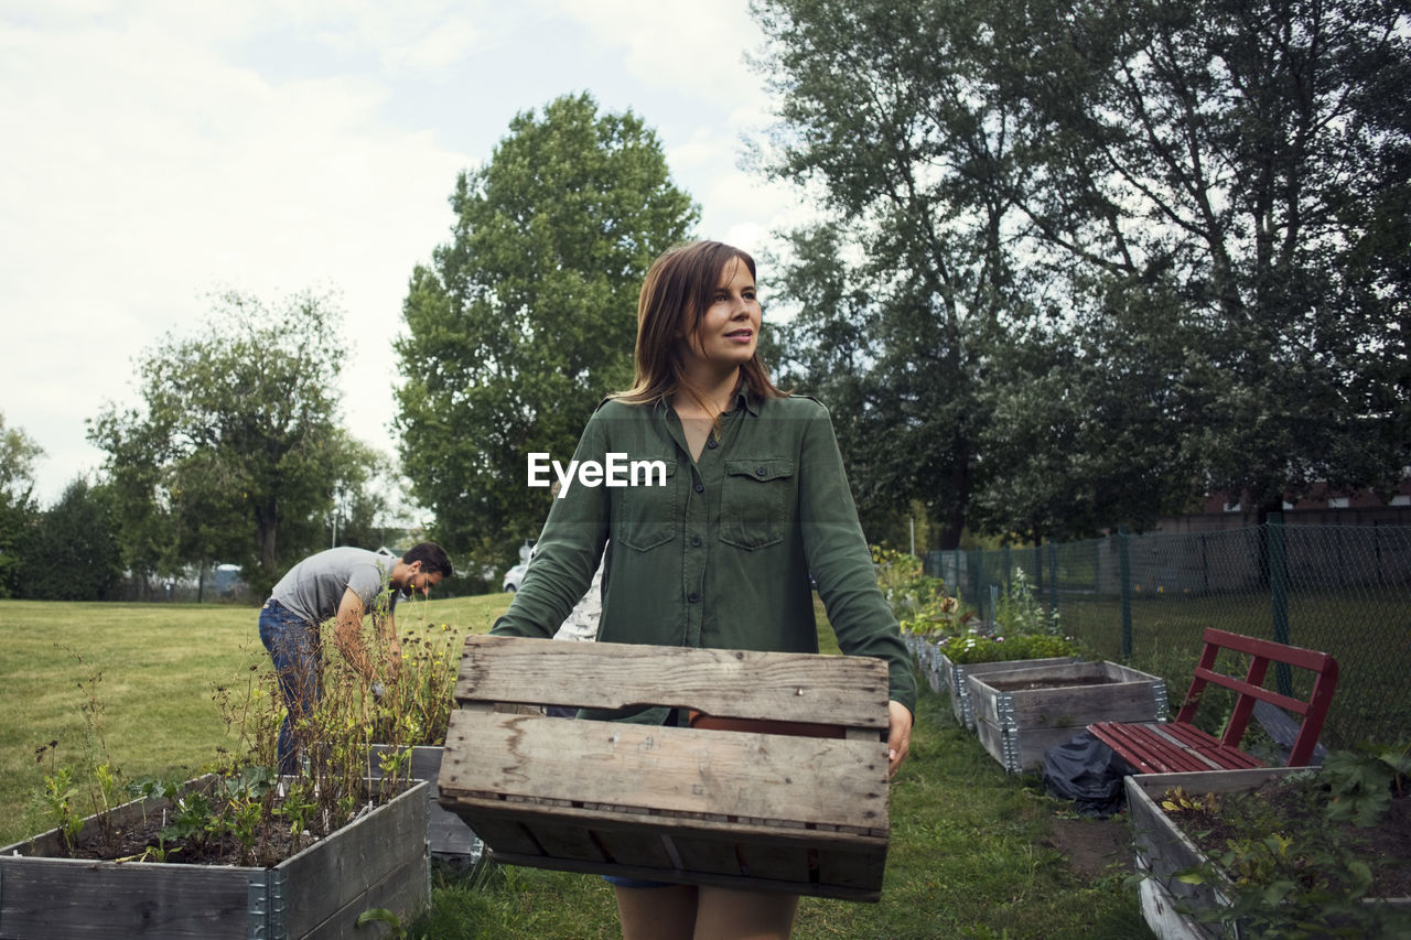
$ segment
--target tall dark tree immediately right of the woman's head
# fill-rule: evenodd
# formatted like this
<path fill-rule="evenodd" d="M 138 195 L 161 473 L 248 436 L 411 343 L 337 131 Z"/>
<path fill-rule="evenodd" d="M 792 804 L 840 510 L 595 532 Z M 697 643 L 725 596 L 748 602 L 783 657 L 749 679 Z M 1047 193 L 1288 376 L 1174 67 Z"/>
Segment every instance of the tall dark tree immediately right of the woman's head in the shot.
<path fill-rule="evenodd" d="M 828 213 L 785 258 L 794 374 L 832 409 L 864 521 L 921 500 L 941 548 L 991 471 L 991 363 L 1041 306 L 1007 237 L 1010 119 L 967 72 L 962 7 L 755 6 L 782 119 L 756 159 Z"/>

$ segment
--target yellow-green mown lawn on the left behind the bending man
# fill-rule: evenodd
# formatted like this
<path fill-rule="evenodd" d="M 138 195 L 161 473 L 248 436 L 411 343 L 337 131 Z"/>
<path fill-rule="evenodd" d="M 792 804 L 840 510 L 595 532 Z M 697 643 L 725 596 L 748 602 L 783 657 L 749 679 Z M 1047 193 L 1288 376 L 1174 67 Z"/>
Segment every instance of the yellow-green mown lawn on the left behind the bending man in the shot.
<path fill-rule="evenodd" d="M 508 594 L 404 603 L 398 620 L 485 632 L 508 605 Z M 192 776 L 217 747 L 233 747 L 213 697 L 217 687 L 243 687 L 251 666 L 270 662 L 258 613 L 0 601 L 0 845 L 35 830 L 27 812 L 44 779 L 35 748 L 49 741 L 59 742 L 61 765 L 106 754 L 127 779 Z M 86 731 L 83 710 L 93 706 L 102 741 Z"/>

